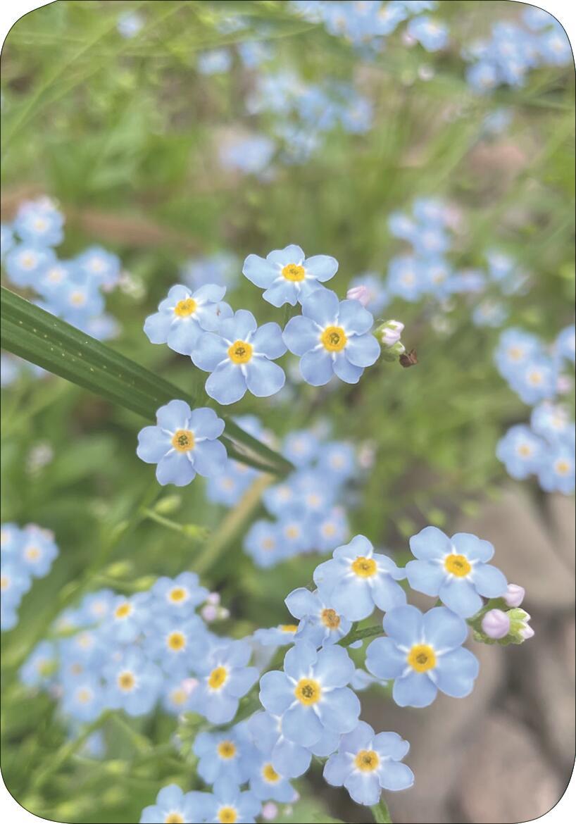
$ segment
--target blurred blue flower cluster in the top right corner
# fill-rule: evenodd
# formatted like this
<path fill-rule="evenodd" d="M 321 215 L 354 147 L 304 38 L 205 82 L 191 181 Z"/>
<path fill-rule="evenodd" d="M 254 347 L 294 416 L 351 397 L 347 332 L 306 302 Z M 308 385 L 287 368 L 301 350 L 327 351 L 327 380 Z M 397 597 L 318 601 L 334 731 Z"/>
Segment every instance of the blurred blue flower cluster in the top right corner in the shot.
<path fill-rule="evenodd" d="M 466 46 L 463 57 L 471 63 L 466 79 L 474 91 L 523 86 L 534 68 L 572 62 L 568 37 L 555 17 L 537 7 L 526 7 L 522 17 L 524 26 L 495 23 L 489 40 Z"/>

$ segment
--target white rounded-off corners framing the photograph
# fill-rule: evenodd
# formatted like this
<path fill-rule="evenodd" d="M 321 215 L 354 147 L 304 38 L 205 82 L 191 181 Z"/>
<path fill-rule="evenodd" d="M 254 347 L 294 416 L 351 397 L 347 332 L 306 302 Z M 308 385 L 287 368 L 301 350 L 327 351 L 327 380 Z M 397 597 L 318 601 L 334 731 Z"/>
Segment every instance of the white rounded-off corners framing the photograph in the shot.
<path fill-rule="evenodd" d="M 37 8 L 49 5 L 52 0 L 4 0 L 0 5 L 0 41 L 3 43 L 14 23 L 20 20 L 28 12 Z M 508 0 L 508 2 L 520 2 L 520 0 Z M 528 4 L 525 4 L 528 5 Z M 570 42 L 576 44 L 576 2 L 574 0 L 546 0 L 546 2 L 532 3 L 532 5 L 544 9 L 554 15 L 564 26 L 569 36 Z M 568 731 L 567 731 L 568 732 Z M 522 760 L 522 752 L 517 753 L 518 759 Z M 488 791 L 489 788 L 486 788 Z M 9 824 L 32 824 L 32 822 L 44 822 L 47 819 L 40 818 L 27 812 L 18 804 L 12 795 L 8 793 L 3 782 L 0 782 L 0 813 L 2 821 Z M 542 824 L 569 824 L 576 820 L 576 779 L 574 772 L 570 784 L 555 808 L 547 812 L 546 815 L 535 819 Z"/>

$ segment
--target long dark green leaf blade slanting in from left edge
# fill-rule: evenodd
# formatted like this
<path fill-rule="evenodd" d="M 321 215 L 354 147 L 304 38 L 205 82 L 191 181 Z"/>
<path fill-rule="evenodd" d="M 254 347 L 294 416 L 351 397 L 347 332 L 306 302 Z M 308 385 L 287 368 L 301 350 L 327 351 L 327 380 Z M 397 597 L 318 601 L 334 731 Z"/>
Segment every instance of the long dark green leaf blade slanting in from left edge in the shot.
<path fill-rule="evenodd" d="M 181 390 L 3 286 L 0 342 L 8 352 L 151 421 L 169 400 L 194 406 L 201 397 L 198 375 L 192 391 Z M 218 414 L 226 423 L 222 439 L 230 457 L 274 475 L 293 470 L 285 458 Z"/>

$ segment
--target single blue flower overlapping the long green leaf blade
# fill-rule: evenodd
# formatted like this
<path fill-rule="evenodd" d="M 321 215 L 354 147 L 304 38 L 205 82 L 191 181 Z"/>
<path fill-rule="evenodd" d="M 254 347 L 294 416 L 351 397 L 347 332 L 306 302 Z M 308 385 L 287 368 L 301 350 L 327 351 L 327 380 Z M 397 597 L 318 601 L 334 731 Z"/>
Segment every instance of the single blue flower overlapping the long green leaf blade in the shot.
<path fill-rule="evenodd" d="M 223 471 L 227 454 L 218 437 L 224 421 L 214 410 L 190 410 L 184 400 L 171 400 L 156 416 L 157 426 L 138 433 L 136 454 L 145 463 L 157 464 L 159 484 L 185 486 L 196 473 L 209 477 Z"/>

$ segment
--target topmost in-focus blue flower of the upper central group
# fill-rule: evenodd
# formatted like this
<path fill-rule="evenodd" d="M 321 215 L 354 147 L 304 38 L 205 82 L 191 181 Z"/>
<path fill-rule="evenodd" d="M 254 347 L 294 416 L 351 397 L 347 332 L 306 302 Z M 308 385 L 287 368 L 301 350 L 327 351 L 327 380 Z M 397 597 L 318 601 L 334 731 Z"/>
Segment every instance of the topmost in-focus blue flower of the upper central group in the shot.
<path fill-rule="evenodd" d="M 306 258 L 300 246 L 293 245 L 274 249 L 266 258 L 248 255 L 242 267 L 242 274 L 265 289 L 262 297 L 275 307 L 302 303 L 337 271 L 338 261 L 330 255 Z"/>

